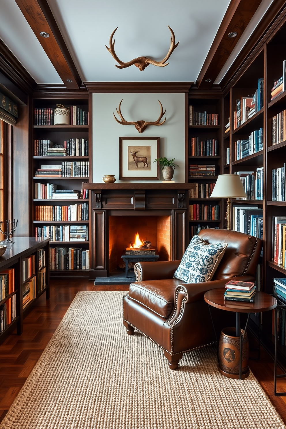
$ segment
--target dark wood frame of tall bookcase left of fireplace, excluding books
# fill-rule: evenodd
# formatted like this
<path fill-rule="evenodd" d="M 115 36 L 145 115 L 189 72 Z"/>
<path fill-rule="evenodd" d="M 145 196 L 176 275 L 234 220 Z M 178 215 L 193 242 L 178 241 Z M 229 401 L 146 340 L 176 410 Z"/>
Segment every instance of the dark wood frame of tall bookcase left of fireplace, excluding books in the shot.
<path fill-rule="evenodd" d="M 56 184 L 57 189 L 74 189 L 81 191 L 82 183 L 92 181 L 92 143 L 91 143 L 91 97 L 86 92 L 75 92 L 66 95 L 63 92 L 57 94 L 36 94 L 33 99 L 33 109 L 36 108 L 57 108 L 57 104 L 69 108 L 70 106 L 77 106 L 80 109 L 89 112 L 89 122 L 87 125 L 34 125 L 33 124 L 33 139 L 31 141 L 31 158 L 32 158 L 32 179 L 31 179 L 31 193 L 32 193 L 32 224 L 31 235 L 36 236 L 36 227 L 51 226 L 51 225 L 86 225 L 88 230 L 88 237 L 90 234 L 90 221 L 36 221 L 35 207 L 37 205 L 62 205 L 69 206 L 71 204 L 88 203 L 89 218 L 90 219 L 90 198 L 87 199 L 36 199 L 35 198 L 35 184 Z M 34 112 L 34 110 L 33 110 Z M 86 156 L 35 156 L 34 155 L 34 140 L 51 140 L 54 144 L 63 145 L 64 141 L 68 139 L 87 139 L 88 140 L 88 155 Z M 85 177 L 35 177 L 35 171 L 41 168 L 42 164 L 46 165 L 60 165 L 63 161 L 89 161 L 89 176 Z M 67 247 L 67 248 L 81 248 L 83 251 L 89 249 L 89 239 L 87 241 L 50 241 L 50 248 Z M 89 278 L 89 270 L 87 269 L 72 269 L 72 270 L 51 270 L 52 278 L 68 278 L 71 275 L 74 277 Z"/>

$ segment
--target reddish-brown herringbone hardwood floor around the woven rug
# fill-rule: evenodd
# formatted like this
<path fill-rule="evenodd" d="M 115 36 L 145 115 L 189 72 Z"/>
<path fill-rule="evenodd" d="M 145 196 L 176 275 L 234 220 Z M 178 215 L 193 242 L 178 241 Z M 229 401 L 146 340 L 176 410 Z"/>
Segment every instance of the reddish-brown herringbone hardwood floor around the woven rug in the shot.
<path fill-rule="evenodd" d="M 51 280 L 51 297 L 45 294 L 24 319 L 21 336 L 13 332 L 0 345 L 0 421 L 9 410 L 66 310 L 81 290 L 128 290 L 128 286 L 94 286 L 87 280 Z M 250 369 L 286 423 L 286 397 L 274 396 L 274 363 L 262 349 L 259 361 L 250 360 Z M 286 379 L 278 381 L 277 390 L 286 391 Z"/>

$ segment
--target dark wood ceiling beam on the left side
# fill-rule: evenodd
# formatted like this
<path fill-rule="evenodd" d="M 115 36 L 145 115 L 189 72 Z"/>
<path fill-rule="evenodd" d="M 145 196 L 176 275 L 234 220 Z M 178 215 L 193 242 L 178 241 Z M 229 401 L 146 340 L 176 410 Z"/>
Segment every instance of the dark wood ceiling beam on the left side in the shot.
<path fill-rule="evenodd" d="M 78 89 L 81 78 L 46 0 L 15 0 L 66 88 Z M 49 37 L 42 37 L 44 31 Z M 68 79 L 72 82 L 68 82 Z"/>

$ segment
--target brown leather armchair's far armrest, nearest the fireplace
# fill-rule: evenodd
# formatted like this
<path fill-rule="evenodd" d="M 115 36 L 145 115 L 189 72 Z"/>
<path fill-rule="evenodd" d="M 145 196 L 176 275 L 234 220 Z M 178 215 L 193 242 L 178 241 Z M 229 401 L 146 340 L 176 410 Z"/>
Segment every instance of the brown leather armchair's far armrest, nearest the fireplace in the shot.
<path fill-rule="evenodd" d="M 136 281 L 163 280 L 172 278 L 181 260 L 162 262 L 136 262 L 134 272 Z"/>

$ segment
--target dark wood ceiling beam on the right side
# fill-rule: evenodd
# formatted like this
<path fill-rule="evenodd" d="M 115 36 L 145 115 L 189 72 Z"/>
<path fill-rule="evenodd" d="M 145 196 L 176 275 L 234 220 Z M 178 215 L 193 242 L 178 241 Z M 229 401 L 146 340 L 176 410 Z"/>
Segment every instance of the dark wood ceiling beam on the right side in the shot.
<path fill-rule="evenodd" d="M 211 88 L 262 0 L 231 0 L 199 73 L 198 88 Z M 235 31 L 236 37 L 229 37 Z M 206 81 L 210 82 L 206 82 Z"/>

